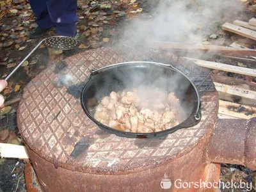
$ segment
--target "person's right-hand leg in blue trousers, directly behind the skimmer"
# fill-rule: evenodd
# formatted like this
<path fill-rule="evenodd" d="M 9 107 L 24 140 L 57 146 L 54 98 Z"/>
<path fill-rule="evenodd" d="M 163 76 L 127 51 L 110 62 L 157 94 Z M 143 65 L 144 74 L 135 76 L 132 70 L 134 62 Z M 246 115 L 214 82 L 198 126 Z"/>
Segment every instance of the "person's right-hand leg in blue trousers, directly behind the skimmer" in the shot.
<path fill-rule="evenodd" d="M 77 0 L 48 0 L 46 3 L 58 35 L 75 36 Z"/>

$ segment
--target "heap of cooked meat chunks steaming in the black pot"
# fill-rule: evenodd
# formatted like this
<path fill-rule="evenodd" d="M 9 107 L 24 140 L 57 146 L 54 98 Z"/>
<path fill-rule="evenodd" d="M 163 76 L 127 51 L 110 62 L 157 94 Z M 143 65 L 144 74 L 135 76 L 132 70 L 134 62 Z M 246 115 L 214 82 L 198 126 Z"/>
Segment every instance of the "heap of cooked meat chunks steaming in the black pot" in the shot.
<path fill-rule="evenodd" d="M 143 88 L 133 89 L 132 92 L 111 92 L 92 111 L 95 111 L 96 120 L 109 127 L 147 133 L 180 124 L 180 110 L 179 99 L 174 93 L 167 95 L 159 89 Z"/>

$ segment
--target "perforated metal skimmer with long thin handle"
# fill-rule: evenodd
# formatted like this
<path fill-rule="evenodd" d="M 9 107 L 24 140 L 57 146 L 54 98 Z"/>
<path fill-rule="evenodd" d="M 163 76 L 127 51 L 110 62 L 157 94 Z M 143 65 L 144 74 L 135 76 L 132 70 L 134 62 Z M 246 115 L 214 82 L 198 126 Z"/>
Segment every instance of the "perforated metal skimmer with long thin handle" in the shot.
<path fill-rule="evenodd" d="M 51 49 L 70 50 L 79 47 L 80 42 L 76 38 L 72 38 L 69 36 L 50 36 L 48 38 L 43 39 L 41 42 L 39 42 L 39 44 L 36 45 L 36 47 L 31 52 L 29 52 L 26 58 L 24 58 L 24 60 L 22 60 L 19 63 L 19 65 L 17 65 L 17 67 L 15 67 L 13 71 L 4 80 L 7 81 L 18 70 L 22 63 L 28 60 L 29 56 L 31 56 L 31 54 L 35 52 L 41 44 Z"/>

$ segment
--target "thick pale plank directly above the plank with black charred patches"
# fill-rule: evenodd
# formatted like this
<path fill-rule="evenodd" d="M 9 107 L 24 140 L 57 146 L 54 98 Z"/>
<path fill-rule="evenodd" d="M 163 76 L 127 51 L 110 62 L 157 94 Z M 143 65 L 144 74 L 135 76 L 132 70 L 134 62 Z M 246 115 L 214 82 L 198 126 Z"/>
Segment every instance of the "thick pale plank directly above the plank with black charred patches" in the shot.
<path fill-rule="evenodd" d="M 256 104 L 256 92 L 214 82 L 215 88 L 219 93 L 219 99 L 229 100 L 245 105 Z"/>

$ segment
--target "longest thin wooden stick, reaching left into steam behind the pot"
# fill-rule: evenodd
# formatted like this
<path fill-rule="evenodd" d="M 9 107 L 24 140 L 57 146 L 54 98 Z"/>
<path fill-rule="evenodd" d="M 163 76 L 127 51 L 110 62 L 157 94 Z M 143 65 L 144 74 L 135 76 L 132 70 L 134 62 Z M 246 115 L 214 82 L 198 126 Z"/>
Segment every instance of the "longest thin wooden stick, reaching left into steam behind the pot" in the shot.
<path fill-rule="evenodd" d="M 181 44 L 177 42 L 159 42 L 150 41 L 147 42 L 147 47 L 152 49 L 163 50 L 186 50 L 186 51 L 209 51 L 209 52 L 222 52 L 222 54 L 228 54 L 230 56 L 256 56 L 255 49 L 241 49 L 235 47 L 223 47 L 216 45 L 189 45 Z"/>

